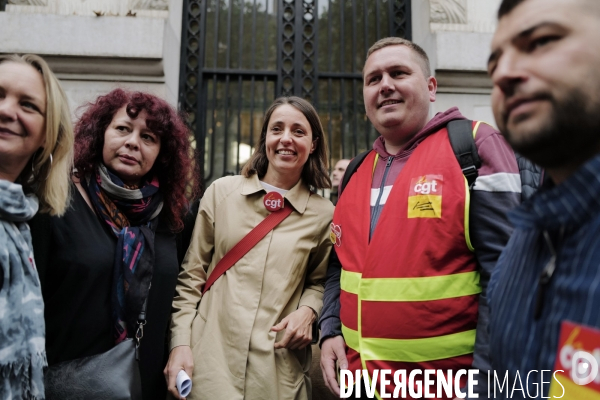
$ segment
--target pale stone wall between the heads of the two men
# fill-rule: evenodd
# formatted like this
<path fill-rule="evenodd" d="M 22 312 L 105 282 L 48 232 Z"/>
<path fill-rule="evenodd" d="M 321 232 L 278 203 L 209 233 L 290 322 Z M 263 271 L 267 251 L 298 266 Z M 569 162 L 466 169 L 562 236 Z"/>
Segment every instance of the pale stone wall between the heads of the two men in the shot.
<path fill-rule="evenodd" d="M 500 0 L 413 0 L 413 40 L 431 58 L 438 81 L 432 114 L 458 106 L 495 125 L 487 59 Z"/>

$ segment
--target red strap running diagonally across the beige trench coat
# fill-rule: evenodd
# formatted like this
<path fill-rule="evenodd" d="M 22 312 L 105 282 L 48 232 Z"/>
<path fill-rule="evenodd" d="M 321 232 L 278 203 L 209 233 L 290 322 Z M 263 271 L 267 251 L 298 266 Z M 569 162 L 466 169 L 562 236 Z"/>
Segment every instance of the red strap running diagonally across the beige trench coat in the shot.
<path fill-rule="evenodd" d="M 285 203 L 282 210 L 272 212 L 256 225 L 246 236 L 242 238 L 235 246 L 231 248 L 217 263 L 215 269 L 206 280 L 202 295 L 210 289 L 217 279 L 221 277 L 229 268 L 238 262 L 247 252 L 250 251 L 267 233 L 271 232 L 281 221 L 283 221 L 293 211 L 289 203 Z"/>

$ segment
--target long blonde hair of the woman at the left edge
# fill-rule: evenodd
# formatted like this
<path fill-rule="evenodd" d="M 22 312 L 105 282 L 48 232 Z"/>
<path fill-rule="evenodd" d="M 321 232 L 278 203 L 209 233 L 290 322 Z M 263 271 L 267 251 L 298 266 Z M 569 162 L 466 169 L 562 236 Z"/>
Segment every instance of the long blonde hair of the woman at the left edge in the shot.
<path fill-rule="evenodd" d="M 46 61 L 35 54 L 0 56 L 0 64 L 12 62 L 33 67 L 42 75 L 46 88 L 46 144 L 32 156 L 31 168 L 19 175 L 19 182 L 40 201 L 40 212 L 62 215 L 70 199 L 73 167 L 73 125 L 67 96 Z"/>

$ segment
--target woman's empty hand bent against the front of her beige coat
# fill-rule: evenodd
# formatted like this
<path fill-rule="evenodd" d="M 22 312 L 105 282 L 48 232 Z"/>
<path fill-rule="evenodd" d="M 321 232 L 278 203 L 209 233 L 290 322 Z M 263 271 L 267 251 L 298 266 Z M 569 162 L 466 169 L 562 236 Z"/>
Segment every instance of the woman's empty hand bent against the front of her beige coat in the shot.
<path fill-rule="evenodd" d="M 271 328 L 273 332 L 285 329 L 283 338 L 275 343 L 276 349 L 302 349 L 312 341 L 312 324 L 316 316 L 312 308 L 301 306 Z"/>

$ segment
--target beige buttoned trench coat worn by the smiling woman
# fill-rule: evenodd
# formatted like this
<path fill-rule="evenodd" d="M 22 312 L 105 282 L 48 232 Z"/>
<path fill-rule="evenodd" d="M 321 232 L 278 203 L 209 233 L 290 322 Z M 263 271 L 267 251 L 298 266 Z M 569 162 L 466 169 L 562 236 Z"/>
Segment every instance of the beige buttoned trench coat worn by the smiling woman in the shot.
<path fill-rule="evenodd" d="M 206 292 L 217 262 L 267 215 L 256 175 L 225 177 L 204 194 L 173 301 L 171 348 L 194 356 L 188 399 L 308 399 L 310 346 L 275 350 L 270 329 L 302 305 L 321 311 L 333 205 L 300 181 L 294 210 Z"/>

